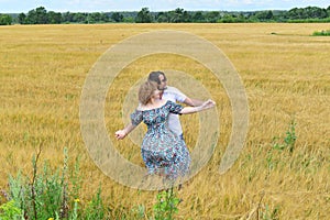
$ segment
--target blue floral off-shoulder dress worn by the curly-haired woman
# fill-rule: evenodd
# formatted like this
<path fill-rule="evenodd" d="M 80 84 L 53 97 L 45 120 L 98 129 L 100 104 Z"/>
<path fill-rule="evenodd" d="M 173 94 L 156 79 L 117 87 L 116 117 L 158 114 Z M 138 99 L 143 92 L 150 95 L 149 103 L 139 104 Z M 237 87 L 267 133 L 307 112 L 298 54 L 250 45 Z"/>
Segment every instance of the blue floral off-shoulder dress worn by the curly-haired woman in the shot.
<path fill-rule="evenodd" d="M 143 121 L 147 125 L 141 145 L 141 154 L 148 174 L 158 174 L 176 179 L 188 174 L 190 155 L 186 143 L 168 129 L 168 114 L 178 114 L 183 107 L 173 101 L 151 110 L 135 110 L 131 114 L 132 124 Z"/>

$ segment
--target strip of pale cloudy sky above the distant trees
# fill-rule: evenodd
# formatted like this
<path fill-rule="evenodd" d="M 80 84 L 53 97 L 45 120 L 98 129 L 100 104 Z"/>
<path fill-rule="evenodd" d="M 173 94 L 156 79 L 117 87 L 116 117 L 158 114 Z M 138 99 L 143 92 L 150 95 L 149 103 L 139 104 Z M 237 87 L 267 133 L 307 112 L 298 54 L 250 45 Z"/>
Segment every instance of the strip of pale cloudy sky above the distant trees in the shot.
<path fill-rule="evenodd" d="M 308 6 L 328 8 L 329 0 L 0 0 L 0 13 L 28 13 L 37 7 L 55 12 L 109 12 L 109 11 L 186 11 L 221 10 L 289 10 Z"/>

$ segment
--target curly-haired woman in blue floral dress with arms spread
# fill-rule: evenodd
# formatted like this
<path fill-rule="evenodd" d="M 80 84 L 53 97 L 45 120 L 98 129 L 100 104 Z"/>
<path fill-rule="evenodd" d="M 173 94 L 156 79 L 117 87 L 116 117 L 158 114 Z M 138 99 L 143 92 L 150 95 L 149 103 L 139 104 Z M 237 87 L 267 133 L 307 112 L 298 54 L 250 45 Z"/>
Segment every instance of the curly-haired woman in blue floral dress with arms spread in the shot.
<path fill-rule="evenodd" d="M 172 101 L 160 99 L 157 85 L 145 81 L 139 90 L 140 105 L 131 114 L 132 124 L 116 132 L 118 140 L 124 139 L 141 121 L 147 125 L 141 146 L 143 162 L 148 174 L 158 174 L 175 180 L 189 172 L 190 156 L 185 142 L 168 129 L 168 114 L 187 114 L 215 107 L 208 100 L 199 107 L 182 107 Z"/>

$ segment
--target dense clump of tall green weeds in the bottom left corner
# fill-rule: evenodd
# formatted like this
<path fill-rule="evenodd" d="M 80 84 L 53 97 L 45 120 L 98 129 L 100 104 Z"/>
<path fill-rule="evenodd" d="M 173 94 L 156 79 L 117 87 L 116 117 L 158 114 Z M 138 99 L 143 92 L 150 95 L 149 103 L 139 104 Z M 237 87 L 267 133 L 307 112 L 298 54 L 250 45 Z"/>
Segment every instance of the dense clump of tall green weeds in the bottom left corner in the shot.
<path fill-rule="evenodd" d="M 64 150 L 64 165 L 62 173 L 53 172 L 48 163 L 38 169 L 41 148 L 32 160 L 32 177 L 9 176 L 8 202 L 0 209 L 0 219 L 103 219 L 105 207 L 101 199 L 101 189 L 82 209 L 79 200 L 81 177 L 79 163 L 76 161 L 73 172 L 68 166 L 68 154 Z"/>

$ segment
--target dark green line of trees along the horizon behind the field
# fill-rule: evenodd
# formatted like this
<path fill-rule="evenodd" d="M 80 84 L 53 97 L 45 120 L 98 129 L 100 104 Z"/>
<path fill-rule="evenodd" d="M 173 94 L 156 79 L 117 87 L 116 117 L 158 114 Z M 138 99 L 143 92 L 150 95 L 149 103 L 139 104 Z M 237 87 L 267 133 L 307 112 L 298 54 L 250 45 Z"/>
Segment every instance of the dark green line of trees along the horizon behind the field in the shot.
<path fill-rule="evenodd" d="M 61 23 L 244 23 L 244 22 L 330 22 L 330 6 L 264 10 L 250 12 L 172 11 L 152 12 L 142 8 L 139 12 L 54 12 L 38 7 L 20 14 L 0 14 L 0 25 L 61 24 Z"/>

